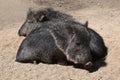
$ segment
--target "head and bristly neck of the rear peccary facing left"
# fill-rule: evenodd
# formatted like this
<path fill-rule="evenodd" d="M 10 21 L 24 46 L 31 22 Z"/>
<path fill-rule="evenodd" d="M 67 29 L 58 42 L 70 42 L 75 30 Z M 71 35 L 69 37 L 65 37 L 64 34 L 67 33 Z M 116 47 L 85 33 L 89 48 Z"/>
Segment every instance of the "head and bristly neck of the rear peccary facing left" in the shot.
<path fill-rule="evenodd" d="M 36 11 L 29 9 L 26 21 L 19 29 L 18 34 L 19 36 L 27 36 L 32 30 L 37 28 L 37 23 L 40 23 L 40 27 L 41 24 L 55 19 L 72 20 L 72 16 L 55 11 L 52 8 L 45 8 Z"/>

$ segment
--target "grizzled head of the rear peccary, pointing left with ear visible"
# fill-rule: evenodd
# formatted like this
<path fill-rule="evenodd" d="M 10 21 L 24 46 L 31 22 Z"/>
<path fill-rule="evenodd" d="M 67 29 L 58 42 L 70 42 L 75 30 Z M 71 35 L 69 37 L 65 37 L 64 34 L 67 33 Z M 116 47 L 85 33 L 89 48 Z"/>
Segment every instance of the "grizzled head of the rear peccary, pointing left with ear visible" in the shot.
<path fill-rule="evenodd" d="M 47 20 L 48 19 L 44 14 L 29 9 L 26 21 L 18 32 L 19 36 L 27 36 L 32 30 L 38 27 L 38 23 L 42 23 Z"/>

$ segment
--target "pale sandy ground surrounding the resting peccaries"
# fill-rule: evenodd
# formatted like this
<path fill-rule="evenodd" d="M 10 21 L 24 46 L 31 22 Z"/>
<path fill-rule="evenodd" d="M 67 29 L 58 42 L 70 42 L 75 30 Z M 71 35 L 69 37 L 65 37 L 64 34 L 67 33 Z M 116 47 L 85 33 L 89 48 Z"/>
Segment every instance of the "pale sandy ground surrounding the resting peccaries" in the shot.
<path fill-rule="evenodd" d="M 15 62 L 17 32 L 29 7 L 55 7 L 103 36 L 107 65 L 89 73 L 72 66 Z M 0 0 L 0 80 L 120 80 L 120 0 Z"/>

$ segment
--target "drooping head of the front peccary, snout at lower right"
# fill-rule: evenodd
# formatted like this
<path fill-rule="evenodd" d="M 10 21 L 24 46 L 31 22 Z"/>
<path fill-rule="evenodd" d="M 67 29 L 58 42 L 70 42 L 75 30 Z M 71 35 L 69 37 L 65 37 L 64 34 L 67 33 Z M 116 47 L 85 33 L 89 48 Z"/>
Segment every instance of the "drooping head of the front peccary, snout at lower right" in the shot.
<path fill-rule="evenodd" d="M 90 34 L 87 27 L 72 24 L 63 28 L 50 29 L 49 32 L 57 47 L 66 55 L 67 60 L 81 64 L 85 68 L 91 67 Z"/>

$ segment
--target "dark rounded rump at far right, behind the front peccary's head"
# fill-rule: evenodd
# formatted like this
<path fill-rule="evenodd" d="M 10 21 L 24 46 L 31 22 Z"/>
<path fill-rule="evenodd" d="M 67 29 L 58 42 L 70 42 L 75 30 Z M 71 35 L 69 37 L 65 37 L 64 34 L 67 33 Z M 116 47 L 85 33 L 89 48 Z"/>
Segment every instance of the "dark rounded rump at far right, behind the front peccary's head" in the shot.
<path fill-rule="evenodd" d="M 88 29 L 91 35 L 90 49 L 93 61 L 105 59 L 107 56 L 107 47 L 102 37 L 92 29 Z"/>

